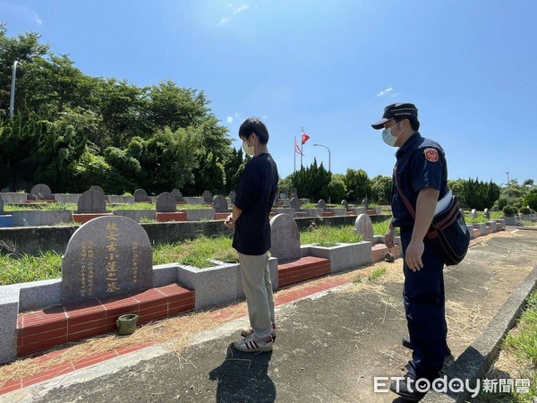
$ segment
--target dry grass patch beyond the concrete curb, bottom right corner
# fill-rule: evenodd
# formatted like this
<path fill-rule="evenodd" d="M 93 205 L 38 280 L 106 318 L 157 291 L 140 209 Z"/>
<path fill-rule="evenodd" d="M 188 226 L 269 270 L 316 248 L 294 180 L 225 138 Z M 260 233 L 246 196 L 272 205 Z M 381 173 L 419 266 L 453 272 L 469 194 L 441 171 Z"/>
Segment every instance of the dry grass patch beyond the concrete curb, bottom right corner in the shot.
<path fill-rule="evenodd" d="M 481 392 L 478 401 L 531 403 L 537 399 L 537 291 L 526 300 L 524 313 L 501 342 L 498 361 L 485 375 L 487 379 L 530 380 L 527 392 Z"/>

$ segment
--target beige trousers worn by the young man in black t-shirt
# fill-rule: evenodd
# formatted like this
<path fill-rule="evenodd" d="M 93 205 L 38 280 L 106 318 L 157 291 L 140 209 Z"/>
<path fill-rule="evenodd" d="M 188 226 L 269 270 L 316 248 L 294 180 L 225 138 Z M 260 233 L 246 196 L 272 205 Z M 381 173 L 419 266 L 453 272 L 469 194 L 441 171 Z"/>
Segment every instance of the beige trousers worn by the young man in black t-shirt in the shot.
<path fill-rule="evenodd" d="M 239 262 L 253 339 L 267 339 L 275 320 L 268 254 L 253 256 L 239 253 Z"/>

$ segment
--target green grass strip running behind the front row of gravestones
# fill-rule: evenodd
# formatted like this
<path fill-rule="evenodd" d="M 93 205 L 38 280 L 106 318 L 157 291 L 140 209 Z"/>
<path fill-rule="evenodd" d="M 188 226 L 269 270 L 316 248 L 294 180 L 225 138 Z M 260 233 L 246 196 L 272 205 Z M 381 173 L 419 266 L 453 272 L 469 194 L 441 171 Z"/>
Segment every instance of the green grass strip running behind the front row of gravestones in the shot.
<path fill-rule="evenodd" d="M 389 219 L 373 224 L 373 233 L 384 235 Z M 362 236 L 354 235 L 354 226 L 315 226 L 300 234 L 301 244 L 333 246 L 339 243 L 354 244 Z M 200 236 L 175 244 L 158 244 L 153 247 L 153 264 L 179 263 L 208 268 L 214 266 L 210 259 L 221 262 L 238 262 L 228 236 Z M 43 252 L 32 256 L 0 253 L 0 286 L 62 277 L 62 254 Z"/>

